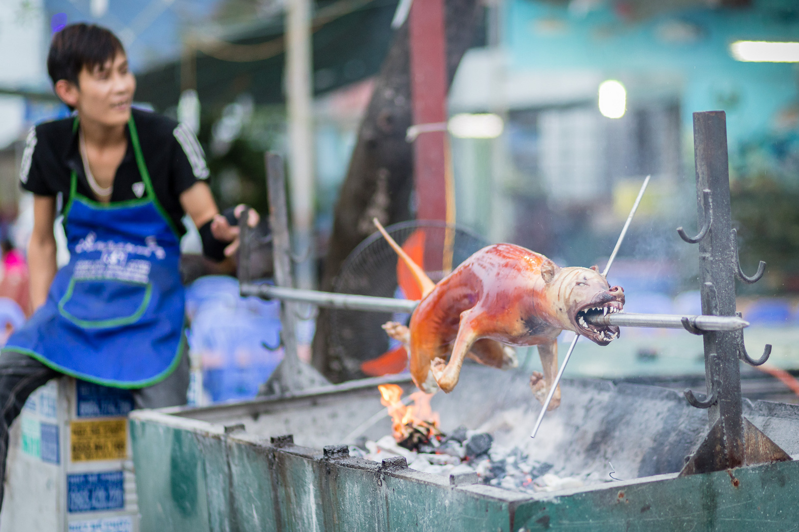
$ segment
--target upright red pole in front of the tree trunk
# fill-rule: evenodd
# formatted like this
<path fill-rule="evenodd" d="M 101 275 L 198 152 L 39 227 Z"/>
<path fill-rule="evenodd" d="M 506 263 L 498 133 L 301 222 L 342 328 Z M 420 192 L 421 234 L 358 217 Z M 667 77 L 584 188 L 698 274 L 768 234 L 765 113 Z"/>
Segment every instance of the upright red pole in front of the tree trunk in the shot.
<path fill-rule="evenodd" d="M 443 0 L 415 0 L 408 19 L 413 123 L 447 120 Z M 414 144 L 416 219 L 447 220 L 447 132 L 419 134 Z"/>

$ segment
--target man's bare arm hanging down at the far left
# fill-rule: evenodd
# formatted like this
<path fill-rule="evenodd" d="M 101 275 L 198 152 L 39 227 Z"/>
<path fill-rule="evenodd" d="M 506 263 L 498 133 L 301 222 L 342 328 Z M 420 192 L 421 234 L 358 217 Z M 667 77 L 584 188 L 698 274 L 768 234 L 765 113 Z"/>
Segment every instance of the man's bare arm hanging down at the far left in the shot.
<path fill-rule="evenodd" d="M 58 270 L 54 223 L 55 196 L 34 195 L 34 231 L 28 243 L 30 305 L 34 312 L 47 301 L 50 284 Z"/>

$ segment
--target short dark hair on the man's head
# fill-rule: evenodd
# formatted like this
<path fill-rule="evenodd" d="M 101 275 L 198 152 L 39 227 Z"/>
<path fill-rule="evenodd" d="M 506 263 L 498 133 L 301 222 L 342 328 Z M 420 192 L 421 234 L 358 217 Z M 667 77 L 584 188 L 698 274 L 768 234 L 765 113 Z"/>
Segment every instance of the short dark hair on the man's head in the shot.
<path fill-rule="evenodd" d="M 78 85 L 78 74 L 85 67 L 92 70 L 113 60 L 125 48 L 116 35 L 93 24 L 70 24 L 58 31 L 50 42 L 47 73 L 53 85 L 58 80 Z"/>

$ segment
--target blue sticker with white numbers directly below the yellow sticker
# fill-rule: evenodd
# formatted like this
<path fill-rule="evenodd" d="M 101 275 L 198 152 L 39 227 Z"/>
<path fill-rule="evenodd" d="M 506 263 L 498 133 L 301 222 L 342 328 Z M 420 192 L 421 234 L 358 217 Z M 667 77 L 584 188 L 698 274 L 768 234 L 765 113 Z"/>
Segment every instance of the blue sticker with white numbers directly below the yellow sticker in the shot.
<path fill-rule="evenodd" d="M 70 513 L 124 508 L 124 483 L 122 471 L 66 475 Z"/>

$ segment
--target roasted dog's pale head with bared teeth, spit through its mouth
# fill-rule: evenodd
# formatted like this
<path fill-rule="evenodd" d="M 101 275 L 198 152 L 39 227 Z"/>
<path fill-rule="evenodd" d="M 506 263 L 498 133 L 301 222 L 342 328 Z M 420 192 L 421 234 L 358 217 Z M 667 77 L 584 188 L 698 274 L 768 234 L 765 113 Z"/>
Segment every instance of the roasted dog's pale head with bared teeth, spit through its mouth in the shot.
<path fill-rule="evenodd" d="M 624 308 L 624 289 L 610 286 L 597 266 L 561 268 L 550 259 L 541 265 L 548 300 L 555 306 L 563 329 L 582 334 L 598 345 L 608 345 L 618 338 L 615 325 L 591 325 L 587 317 L 620 312 Z"/>

